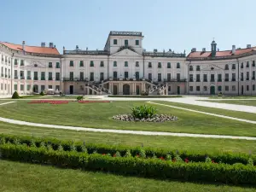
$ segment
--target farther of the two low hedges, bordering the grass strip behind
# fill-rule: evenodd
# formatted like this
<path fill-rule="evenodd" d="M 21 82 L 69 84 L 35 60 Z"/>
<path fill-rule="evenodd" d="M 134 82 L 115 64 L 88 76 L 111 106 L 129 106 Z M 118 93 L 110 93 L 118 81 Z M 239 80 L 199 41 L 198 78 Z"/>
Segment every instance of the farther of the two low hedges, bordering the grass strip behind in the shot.
<path fill-rule="evenodd" d="M 4 138 L 4 139 L 3 139 Z M 50 144 L 51 147 L 54 150 L 57 150 L 59 146 L 65 150 L 65 151 L 71 151 L 73 148 L 76 148 L 78 152 L 83 151 L 83 148 L 85 147 L 89 154 L 93 154 L 94 152 L 97 152 L 99 154 L 115 154 L 117 151 L 124 156 L 127 150 L 131 151 L 132 156 L 136 156 L 139 154 L 142 149 L 145 152 L 147 157 L 153 157 L 154 155 L 158 158 L 164 157 L 166 158 L 167 154 L 170 154 L 175 156 L 178 154 L 183 160 L 189 159 L 189 161 L 195 161 L 195 162 L 204 162 L 207 157 L 211 158 L 215 162 L 222 162 L 226 164 L 235 164 L 235 163 L 242 163 L 244 165 L 247 165 L 247 162 L 249 159 L 252 159 L 254 162 L 254 165 L 256 163 L 256 155 L 251 154 L 236 154 L 232 152 L 221 152 L 221 153 L 211 153 L 211 152 L 205 152 L 205 151 L 179 151 L 179 150 L 168 150 L 163 148 L 143 148 L 143 147 L 128 147 L 128 146 L 114 146 L 114 145 L 108 145 L 108 144 L 98 144 L 98 143 L 74 143 L 73 141 L 65 141 L 65 140 L 58 140 L 53 138 L 37 138 L 37 137 L 15 137 L 15 136 L 9 136 L 9 135 L 0 135 L 0 143 L 1 141 L 5 141 L 5 143 L 26 143 L 26 145 L 31 146 L 32 143 L 35 143 L 37 147 L 41 145 L 41 143 L 44 144 Z"/>

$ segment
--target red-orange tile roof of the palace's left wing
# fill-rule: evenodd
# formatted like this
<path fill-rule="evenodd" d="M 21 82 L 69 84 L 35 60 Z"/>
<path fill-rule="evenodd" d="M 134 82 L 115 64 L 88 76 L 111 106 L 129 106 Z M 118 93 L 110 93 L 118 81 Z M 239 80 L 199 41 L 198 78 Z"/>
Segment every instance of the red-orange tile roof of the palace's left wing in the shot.
<path fill-rule="evenodd" d="M 4 44 L 9 47 L 9 49 L 14 50 L 22 50 L 21 44 L 10 44 L 7 42 L 0 42 L 0 44 Z M 25 51 L 28 53 L 37 53 L 37 54 L 50 54 L 50 55 L 60 55 L 58 49 L 49 48 L 49 47 L 37 47 L 37 46 L 27 46 L 25 45 Z"/>

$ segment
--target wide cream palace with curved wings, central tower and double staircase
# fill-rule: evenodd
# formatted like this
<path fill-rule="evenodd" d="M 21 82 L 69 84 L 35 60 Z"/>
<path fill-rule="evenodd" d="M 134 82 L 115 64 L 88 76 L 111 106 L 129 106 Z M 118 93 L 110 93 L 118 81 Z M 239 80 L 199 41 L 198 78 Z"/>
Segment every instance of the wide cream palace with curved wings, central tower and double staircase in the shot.
<path fill-rule="evenodd" d="M 142 32 L 110 32 L 104 49 L 0 42 L 0 96 L 55 90 L 74 95 L 256 95 L 256 48 L 175 53 L 143 49 Z"/>

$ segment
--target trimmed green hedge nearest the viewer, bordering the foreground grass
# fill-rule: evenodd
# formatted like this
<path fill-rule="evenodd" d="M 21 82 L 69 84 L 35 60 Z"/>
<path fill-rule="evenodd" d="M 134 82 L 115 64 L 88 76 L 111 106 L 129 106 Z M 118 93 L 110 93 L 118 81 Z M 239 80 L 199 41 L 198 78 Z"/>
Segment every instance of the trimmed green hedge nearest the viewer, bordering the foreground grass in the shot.
<path fill-rule="evenodd" d="M 256 184 L 256 167 L 241 164 L 231 166 L 202 162 L 179 163 L 171 160 L 55 151 L 14 144 L 0 145 L 0 152 L 1 157 L 6 160 L 49 164 L 66 168 L 186 181 Z"/>

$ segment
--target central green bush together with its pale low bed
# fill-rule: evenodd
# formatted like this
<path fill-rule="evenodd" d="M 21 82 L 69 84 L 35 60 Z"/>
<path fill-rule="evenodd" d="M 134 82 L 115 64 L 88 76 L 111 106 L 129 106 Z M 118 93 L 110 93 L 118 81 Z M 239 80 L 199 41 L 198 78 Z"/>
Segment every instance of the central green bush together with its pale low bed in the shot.
<path fill-rule="evenodd" d="M 124 121 L 148 121 L 148 122 L 164 122 L 177 120 L 177 117 L 167 114 L 157 114 L 156 108 L 152 106 L 138 106 L 131 108 L 131 114 L 119 114 L 113 116 L 113 119 Z"/>

